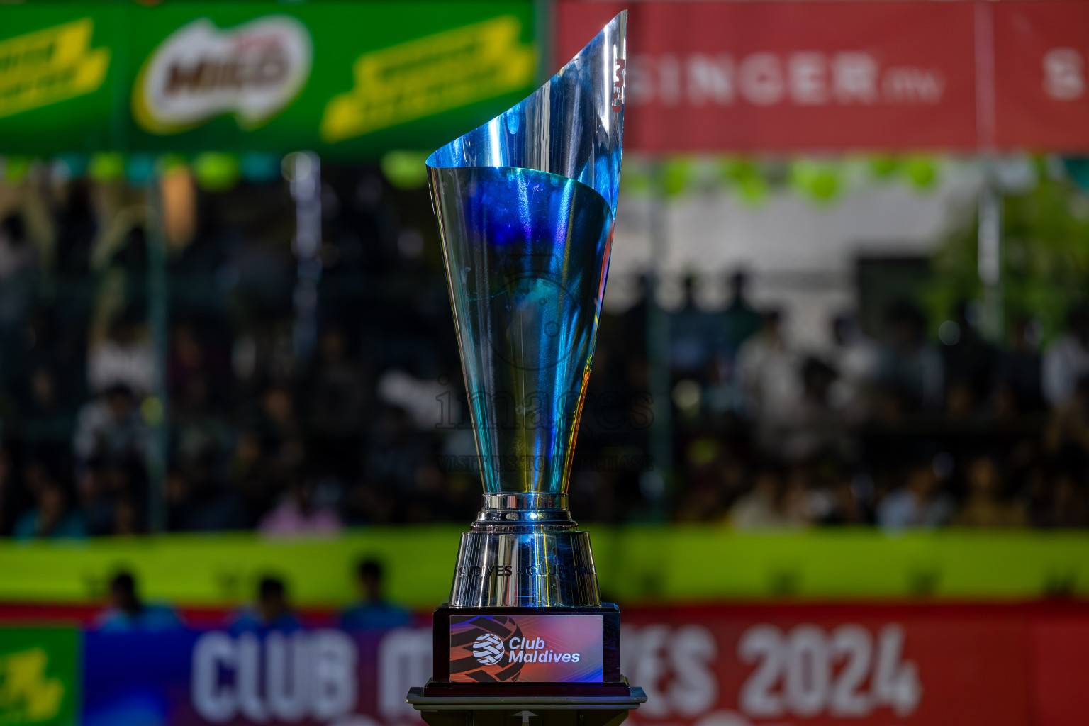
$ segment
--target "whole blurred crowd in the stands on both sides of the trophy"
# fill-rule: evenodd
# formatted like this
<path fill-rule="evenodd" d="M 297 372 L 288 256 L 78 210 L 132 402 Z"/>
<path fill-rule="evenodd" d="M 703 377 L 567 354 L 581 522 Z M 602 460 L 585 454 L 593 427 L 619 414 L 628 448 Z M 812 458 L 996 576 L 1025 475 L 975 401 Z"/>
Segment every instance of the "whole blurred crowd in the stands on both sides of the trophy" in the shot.
<path fill-rule="evenodd" d="M 0 198 L 0 534 L 474 517 L 426 192 L 328 171 L 314 320 L 281 184 L 195 193 L 196 223 L 162 241 L 143 195 L 41 173 Z M 727 306 L 701 308 L 697 284 L 727 286 Z M 1089 525 L 1089 310 L 1072 305 L 1047 344 L 1036 321 L 1008 321 L 998 344 L 970 304 L 930 321 L 905 300 L 871 335 L 836 317 L 832 344 L 808 350 L 744 272 L 687 279 L 671 312 L 648 287 L 601 319 L 580 520 Z M 651 354 L 669 368 L 668 426 Z"/>

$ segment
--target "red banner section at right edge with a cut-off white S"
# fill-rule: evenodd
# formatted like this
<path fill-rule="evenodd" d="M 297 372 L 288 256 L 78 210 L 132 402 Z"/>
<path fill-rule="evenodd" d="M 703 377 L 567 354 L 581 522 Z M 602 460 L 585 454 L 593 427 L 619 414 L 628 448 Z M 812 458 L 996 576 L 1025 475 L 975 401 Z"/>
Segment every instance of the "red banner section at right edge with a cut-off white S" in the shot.
<path fill-rule="evenodd" d="M 1089 147 L 1089 2 L 994 2 L 1000 147 Z"/>

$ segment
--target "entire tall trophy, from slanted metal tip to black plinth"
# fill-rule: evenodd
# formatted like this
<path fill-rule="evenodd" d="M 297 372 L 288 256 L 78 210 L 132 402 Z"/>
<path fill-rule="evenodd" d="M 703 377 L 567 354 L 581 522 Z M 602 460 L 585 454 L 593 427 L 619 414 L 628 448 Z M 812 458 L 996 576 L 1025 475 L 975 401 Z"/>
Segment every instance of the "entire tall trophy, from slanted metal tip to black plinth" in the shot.
<path fill-rule="evenodd" d="M 620 673 L 620 612 L 567 508 L 616 210 L 626 19 L 427 159 L 485 493 L 435 614 L 432 679 L 409 691 L 426 719 L 526 689 L 526 703 L 621 721 L 645 700 Z"/>

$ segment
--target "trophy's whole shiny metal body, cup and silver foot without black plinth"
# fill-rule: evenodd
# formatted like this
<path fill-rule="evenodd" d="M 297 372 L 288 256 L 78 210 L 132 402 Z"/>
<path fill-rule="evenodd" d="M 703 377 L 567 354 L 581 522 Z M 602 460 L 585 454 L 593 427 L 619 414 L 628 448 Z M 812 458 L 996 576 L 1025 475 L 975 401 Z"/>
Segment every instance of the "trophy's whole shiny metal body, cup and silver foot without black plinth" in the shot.
<path fill-rule="evenodd" d="M 427 160 L 486 492 L 453 607 L 600 604 L 566 491 L 609 271 L 626 20 Z"/>

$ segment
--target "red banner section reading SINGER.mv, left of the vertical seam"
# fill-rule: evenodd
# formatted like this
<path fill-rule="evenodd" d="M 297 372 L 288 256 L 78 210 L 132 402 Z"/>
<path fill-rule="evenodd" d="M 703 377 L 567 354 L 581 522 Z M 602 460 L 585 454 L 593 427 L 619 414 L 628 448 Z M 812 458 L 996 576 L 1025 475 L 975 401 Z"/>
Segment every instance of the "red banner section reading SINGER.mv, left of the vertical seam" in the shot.
<path fill-rule="evenodd" d="M 556 58 L 625 7 L 560 2 Z M 624 143 L 654 152 L 972 148 L 972 28 L 963 2 L 634 3 Z"/>

